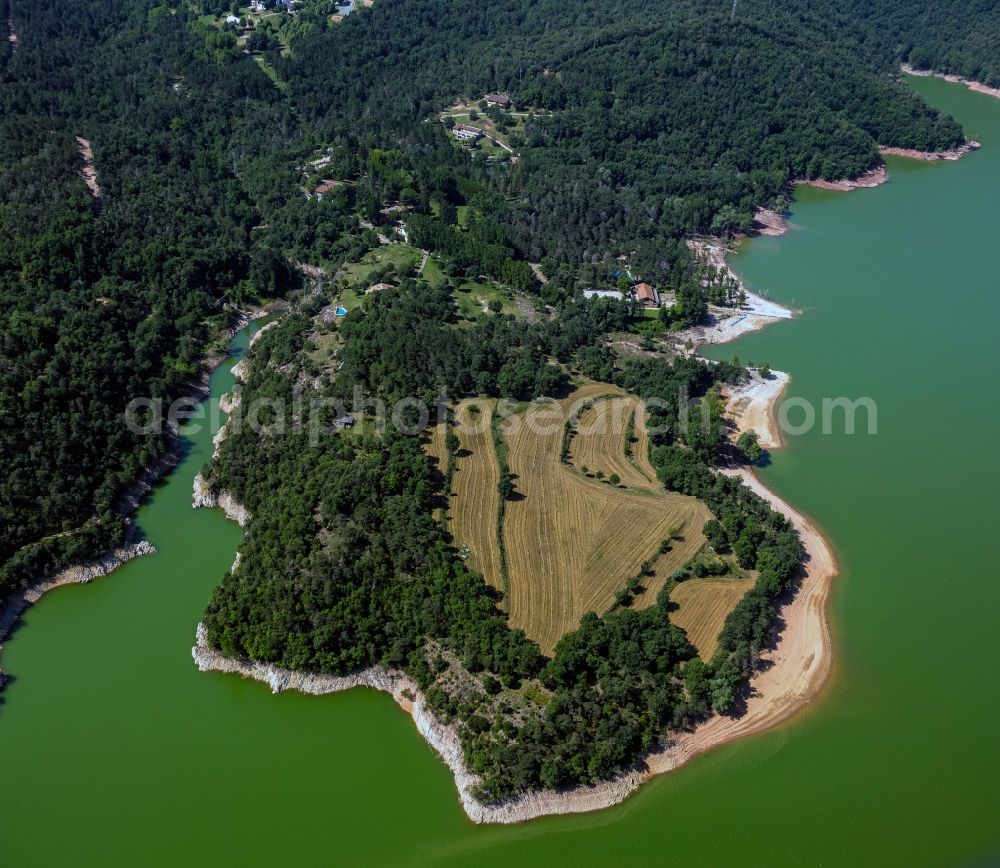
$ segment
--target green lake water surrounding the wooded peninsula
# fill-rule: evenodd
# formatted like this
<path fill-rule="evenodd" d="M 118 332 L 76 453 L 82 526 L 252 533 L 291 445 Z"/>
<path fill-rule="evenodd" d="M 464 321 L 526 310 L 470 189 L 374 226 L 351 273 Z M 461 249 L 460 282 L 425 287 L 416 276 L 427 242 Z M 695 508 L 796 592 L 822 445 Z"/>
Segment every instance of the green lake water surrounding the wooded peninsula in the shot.
<path fill-rule="evenodd" d="M 983 149 L 802 191 L 794 231 L 733 262 L 803 316 L 714 351 L 791 372 L 817 406 L 877 403 L 876 435 L 791 438 L 762 472 L 842 566 L 836 672 L 807 712 L 618 808 L 475 827 L 387 696 L 195 669 L 241 533 L 190 507 L 204 431 L 139 512 L 159 552 L 45 597 L 4 651 L 0 865 L 996 864 L 1000 102 L 913 86 Z"/>

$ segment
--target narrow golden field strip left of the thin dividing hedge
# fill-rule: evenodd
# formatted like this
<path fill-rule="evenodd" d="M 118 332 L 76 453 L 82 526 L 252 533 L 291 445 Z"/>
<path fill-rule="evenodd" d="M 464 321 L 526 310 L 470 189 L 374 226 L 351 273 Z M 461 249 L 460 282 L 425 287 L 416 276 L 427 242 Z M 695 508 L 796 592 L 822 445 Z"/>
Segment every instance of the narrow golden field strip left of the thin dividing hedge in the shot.
<path fill-rule="evenodd" d="M 504 590 L 497 541 L 500 467 L 491 424 L 495 405 L 495 401 L 481 399 L 463 401 L 455 409 L 460 446 L 451 480 L 448 526 L 458 545 L 468 547 L 469 565 L 483 574 L 487 584 Z M 472 411 L 474 406 L 480 408 L 478 414 Z"/>

